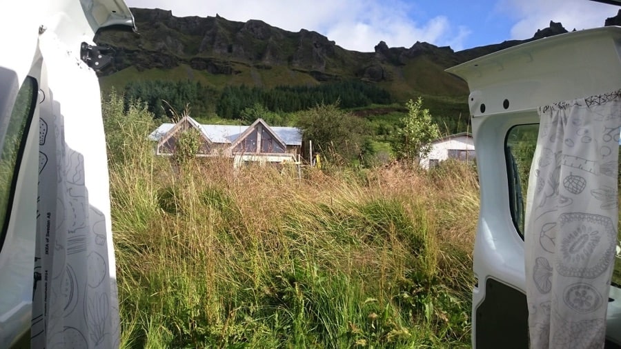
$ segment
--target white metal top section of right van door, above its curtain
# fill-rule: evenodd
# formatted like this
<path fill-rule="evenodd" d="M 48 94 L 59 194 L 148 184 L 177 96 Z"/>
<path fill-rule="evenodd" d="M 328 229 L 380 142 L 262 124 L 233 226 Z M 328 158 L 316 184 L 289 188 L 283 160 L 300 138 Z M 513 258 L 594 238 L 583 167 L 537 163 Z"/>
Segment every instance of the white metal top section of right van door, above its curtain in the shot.
<path fill-rule="evenodd" d="M 618 89 L 614 77 L 621 75 L 620 40 L 620 27 L 569 32 L 494 52 L 446 71 L 468 83 L 470 112 L 475 118 L 534 110 L 555 101 Z"/>

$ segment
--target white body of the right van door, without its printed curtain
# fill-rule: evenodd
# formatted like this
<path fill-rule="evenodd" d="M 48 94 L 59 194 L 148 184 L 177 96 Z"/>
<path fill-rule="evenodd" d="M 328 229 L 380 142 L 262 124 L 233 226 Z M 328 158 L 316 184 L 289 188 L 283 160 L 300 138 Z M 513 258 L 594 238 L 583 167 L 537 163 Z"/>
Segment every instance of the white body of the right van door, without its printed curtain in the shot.
<path fill-rule="evenodd" d="M 465 79 L 471 90 L 480 177 L 481 208 L 473 255 L 477 277 L 473 347 L 526 348 L 528 307 L 520 226 L 524 217 L 518 212 L 526 195 L 515 192 L 516 186 L 523 192 L 526 188 L 520 188 L 516 177 L 509 137 L 517 126 L 539 122 L 539 106 L 621 88 L 621 28 L 549 37 L 447 71 Z M 621 346 L 620 296 L 619 288 L 611 288 L 607 317 L 607 346 L 611 348 Z"/>

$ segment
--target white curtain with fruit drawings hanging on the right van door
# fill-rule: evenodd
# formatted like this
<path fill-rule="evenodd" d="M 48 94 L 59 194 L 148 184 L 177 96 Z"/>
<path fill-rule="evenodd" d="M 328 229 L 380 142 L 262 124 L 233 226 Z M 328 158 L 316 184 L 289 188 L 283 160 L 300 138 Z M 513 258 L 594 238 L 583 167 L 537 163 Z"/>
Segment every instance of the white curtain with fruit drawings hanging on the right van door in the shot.
<path fill-rule="evenodd" d="M 531 348 L 602 348 L 617 240 L 621 90 L 539 114 L 524 238 Z"/>

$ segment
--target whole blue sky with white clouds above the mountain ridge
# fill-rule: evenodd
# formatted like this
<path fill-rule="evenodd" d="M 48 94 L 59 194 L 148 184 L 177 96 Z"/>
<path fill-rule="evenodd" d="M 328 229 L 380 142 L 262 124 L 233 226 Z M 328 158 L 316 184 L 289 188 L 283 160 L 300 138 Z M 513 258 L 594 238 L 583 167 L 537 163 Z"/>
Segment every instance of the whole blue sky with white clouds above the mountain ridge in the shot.
<path fill-rule="evenodd" d="M 410 47 L 416 41 L 463 50 L 528 39 L 549 22 L 567 30 L 595 28 L 620 6 L 589 0 L 126 0 L 128 6 L 172 10 L 177 17 L 260 19 L 292 32 L 324 34 L 348 50 L 373 51 L 380 41 Z"/>

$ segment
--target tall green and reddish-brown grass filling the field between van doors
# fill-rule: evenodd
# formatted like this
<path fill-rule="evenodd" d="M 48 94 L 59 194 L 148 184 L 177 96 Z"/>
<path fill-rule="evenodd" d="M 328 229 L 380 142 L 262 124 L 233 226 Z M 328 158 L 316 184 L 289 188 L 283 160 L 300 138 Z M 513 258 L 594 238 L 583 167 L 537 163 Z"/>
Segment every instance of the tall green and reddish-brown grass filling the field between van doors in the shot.
<path fill-rule="evenodd" d="M 469 346 L 472 168 L 177 167 L 147 126 L 125 130 L 135 143 L 110 149 L 121 347 Z"/>

